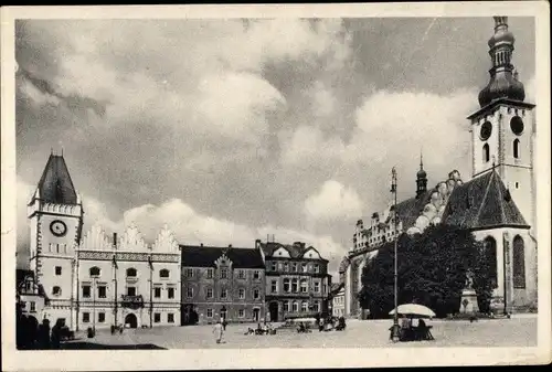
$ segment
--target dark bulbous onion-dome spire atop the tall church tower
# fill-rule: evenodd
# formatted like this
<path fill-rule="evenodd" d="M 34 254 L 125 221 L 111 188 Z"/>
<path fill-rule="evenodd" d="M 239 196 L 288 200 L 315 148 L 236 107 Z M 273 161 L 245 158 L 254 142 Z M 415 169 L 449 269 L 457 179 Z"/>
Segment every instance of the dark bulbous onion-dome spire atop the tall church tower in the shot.
<path fill-rule="evenodd" d="M 489 70 L 489 84 L 479 93 L 481 107 L 499 98 L 526 99 L 523 84 L 518 81 L 518 72 L 511 63 L 516 38 L 508 30 L 508 17 L 493 18 L 495 34 L 488 43 L 492 67 Z"/>

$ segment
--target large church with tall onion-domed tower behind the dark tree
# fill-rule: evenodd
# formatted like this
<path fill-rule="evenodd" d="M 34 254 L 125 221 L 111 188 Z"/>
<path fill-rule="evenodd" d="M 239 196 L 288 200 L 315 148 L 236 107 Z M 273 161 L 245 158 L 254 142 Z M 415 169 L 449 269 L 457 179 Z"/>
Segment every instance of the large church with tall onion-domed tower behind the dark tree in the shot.
<path fill-rule="evenodd" d="M 413 198 L 357 222 L 353 248 L 339 267 L 348 317 L 363 316 L 357 294 L 367 263 L 380 249 L 392 249 L 400 234 L 422 233 L 439 223 L 468 228 L 496 257 L 491 307 L 509 313 L 537 308 L 535 105 L 524 100 L 523 84 L 511 63 L 514 36 L 508 18 L 493 19 L 490 79 L 479 93 L 480 108 L 467 118 L 471 179 L 464 181 L 453 170 L 428 189 L 421 159 Z"/>

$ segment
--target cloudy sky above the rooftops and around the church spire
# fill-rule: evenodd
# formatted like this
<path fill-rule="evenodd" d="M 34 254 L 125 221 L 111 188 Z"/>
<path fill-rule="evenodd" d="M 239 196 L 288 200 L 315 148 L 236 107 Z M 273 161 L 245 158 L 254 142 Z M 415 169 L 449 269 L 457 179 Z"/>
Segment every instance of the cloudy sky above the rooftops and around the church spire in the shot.
<path fill-rule="evenodd" d="M 534 85 L 534 21 L 510 19 Z M 274 234 L 331 262 L 359 217 L 470 176 L 469 126 L 488 82 L 489 18 L 18 21 L 19 263 L 25 203 L 51 148 L 85 228 L 167 223 L 180 243 L 252 246 Z"/>

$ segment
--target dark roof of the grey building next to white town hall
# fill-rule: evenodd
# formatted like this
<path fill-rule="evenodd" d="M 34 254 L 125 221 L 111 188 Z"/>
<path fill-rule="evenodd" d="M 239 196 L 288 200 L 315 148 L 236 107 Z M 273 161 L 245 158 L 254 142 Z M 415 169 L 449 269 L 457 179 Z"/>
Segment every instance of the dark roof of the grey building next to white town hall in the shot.
<path fill-rule="evenodd" d="M 182 266 L 216 267 L 215 261 L 226 254 L 235 268 L 264 268 L 261 251 L 255 248 L 181 245 Z"/>

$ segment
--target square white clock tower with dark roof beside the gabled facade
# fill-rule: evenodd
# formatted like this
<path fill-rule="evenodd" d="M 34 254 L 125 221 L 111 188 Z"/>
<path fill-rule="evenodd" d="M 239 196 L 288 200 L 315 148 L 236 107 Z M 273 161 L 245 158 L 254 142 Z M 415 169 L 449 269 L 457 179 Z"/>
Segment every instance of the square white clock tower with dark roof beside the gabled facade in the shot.
<path fill-rule="evenodd" d="M 44 317 L 54 322 L 65 318 L 67 326 L 73 319 L 75 247 L 81 241 L 83 214 L 63 155 L 50 155 L 28 205 L 30 266 L 50 299 Z"/>

